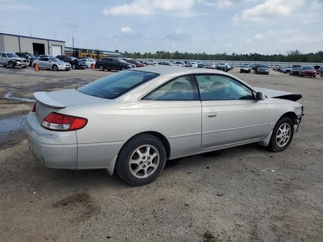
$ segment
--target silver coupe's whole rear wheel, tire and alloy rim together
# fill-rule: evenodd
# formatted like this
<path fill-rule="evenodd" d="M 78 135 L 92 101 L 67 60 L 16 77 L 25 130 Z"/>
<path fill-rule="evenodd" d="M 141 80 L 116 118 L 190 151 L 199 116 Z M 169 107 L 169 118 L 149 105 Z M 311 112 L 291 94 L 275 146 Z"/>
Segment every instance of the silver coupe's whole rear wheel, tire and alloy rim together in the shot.
<path fill-rule="evenodd" d="M 166 164 L 166 149 L 155 136 L 141 134 L 131 138 L 119 152 L 116 170 L 131 186 L 154 181 Z"/>

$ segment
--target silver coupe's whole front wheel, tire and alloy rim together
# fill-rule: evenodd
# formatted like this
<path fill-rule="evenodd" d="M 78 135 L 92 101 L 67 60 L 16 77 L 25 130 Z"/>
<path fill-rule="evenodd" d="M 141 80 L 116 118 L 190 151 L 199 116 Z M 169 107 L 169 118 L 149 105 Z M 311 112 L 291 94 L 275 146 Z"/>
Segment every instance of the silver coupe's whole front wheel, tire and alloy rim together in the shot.
<path fill-rule="evenodd" d="M 282 117 L 278 120 L 273 134 L 268 145 L 274 152 L 285 150 L 291 143 L 294 135 L 294 123 L 293 120 L 288 117 Z"/>

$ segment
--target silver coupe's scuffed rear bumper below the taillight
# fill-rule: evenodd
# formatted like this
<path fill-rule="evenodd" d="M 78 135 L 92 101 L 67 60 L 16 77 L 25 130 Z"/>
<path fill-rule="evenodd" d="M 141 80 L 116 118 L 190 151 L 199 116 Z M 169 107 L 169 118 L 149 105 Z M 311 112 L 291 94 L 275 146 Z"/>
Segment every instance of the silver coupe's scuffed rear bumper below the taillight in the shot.
<path fill-rule="evenodd" d="M 56 132 L 40 126 L 35 112 L 24 123 L 29 148 L 34 157 L 49 168 L 99 169 L 113 173 L 116 157 L 123 141 L 78 144 L 77 131 Z"/>

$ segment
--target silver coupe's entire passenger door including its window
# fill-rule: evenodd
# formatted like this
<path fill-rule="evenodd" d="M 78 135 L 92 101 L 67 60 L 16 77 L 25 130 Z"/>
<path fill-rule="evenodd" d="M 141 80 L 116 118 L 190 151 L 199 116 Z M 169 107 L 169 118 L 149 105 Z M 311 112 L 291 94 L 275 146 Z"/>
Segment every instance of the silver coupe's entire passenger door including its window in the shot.
<path fill-rule="evenodd" d="M 202 148 L 264 136 L 270 109 L 256 101 L 252 90 L 226 75 L 196 75 L 202 103 Z"/>

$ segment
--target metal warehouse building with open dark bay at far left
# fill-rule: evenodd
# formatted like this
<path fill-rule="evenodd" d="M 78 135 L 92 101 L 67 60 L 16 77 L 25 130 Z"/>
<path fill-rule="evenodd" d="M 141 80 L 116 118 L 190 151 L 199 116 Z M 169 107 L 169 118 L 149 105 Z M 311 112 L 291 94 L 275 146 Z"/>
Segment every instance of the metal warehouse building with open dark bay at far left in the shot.
<path fill-rule="evenodd" d="M 64 54 L 65 41 L 0 33 L 0 51 L 31 54 Z"/>

